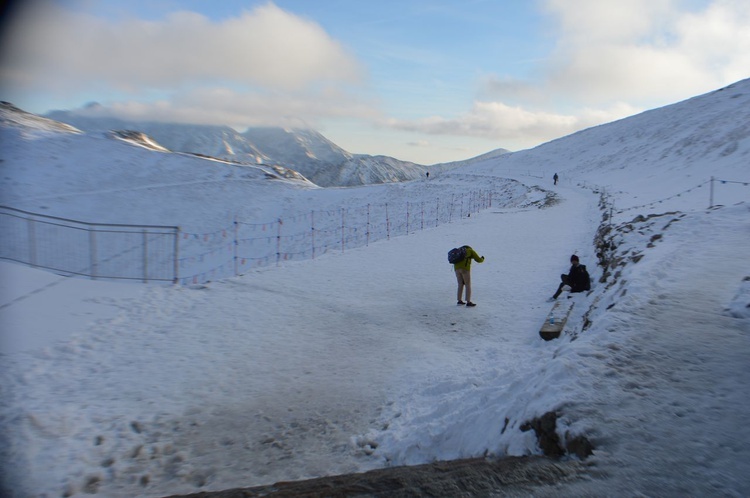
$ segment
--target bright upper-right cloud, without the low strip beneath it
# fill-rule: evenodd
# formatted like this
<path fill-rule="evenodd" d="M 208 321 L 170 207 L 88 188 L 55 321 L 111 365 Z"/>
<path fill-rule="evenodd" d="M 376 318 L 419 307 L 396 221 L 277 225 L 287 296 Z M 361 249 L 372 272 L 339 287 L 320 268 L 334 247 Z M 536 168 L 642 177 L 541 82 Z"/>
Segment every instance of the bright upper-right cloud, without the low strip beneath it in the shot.
<path fill-rule="evenodd" d="M 748 77 L 750 11 L 715 0 L 690 11 L 677 0 L 547 0 L 557 47 L 543 88 L 581 103 L 613 98 L 674 102 Z"/>

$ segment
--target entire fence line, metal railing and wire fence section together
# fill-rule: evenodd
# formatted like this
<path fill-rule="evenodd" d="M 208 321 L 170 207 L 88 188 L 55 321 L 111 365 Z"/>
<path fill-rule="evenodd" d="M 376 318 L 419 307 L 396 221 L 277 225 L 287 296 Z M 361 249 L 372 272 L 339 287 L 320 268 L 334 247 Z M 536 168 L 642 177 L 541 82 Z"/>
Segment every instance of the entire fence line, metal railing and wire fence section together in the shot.
<path fill-rule="evenodd" d="M 417 202 L 311 210 L 268 222 L 235 218 L 231 225 L 202 233 L 176 226 L 90 223 L 0 206 L 0 259 L 93 279 L 198 284 L 413 234 L 469 217 L 492 202 L 492 190 L 478 190 Z"/>

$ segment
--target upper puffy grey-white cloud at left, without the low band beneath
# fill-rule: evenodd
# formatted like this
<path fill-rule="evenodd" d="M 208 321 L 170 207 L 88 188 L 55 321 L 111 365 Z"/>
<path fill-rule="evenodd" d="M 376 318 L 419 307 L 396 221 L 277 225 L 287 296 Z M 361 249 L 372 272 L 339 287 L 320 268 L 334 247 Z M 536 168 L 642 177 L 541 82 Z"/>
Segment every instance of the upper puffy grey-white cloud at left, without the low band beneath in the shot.
<path fill-rule="evenodd" d="M 319 25 L 273 3 L 220 22 L 192 12 L 112 21 L 42 6 L 6 34 L 6 81 L 56 93 L 114 87 L 138 94 L 217 82 L 299 91 L 356 84 L 364 75 Z"/>

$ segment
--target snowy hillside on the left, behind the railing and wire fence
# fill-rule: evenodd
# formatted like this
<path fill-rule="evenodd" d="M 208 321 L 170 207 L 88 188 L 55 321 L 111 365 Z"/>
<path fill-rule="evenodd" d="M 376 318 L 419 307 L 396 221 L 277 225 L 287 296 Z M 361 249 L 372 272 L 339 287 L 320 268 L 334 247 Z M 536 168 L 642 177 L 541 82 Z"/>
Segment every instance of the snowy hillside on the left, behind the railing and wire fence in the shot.
<path fill-rule="evenodd" d="M 396 181 L 404 180 L 402 177 L 388 177 L 394 181 L 369 188 L 328 193 L 281 166 L 241 165 L 164 152 L 141 132 L 53 133 L 51 124 L 55 122 L 45 120 L 39 121 L 45 133 L 25 136 L 9 123 L 0 129 L 0 138 L 6 144 L 3 205 L 80 222 L 179 227 L 183 236 L 179 248 L 171 250 L 173 256 L 155 256 L 161 263 L 152 261 L 143 268 L 166 269 L 166 261 L 178 259 L 179 253 L 179 261 L 171 265 L 172 276 L 160 271 L 160 278 L 182 282 L 227 277 L 282 258 L 315 257 L 342 244 L 355 247 L 414 231 L 425 223 L 435 226 L 475 211 L 481 190 L 486 202 L 489 192 L 494 192 L 494 205 L 498 207 L 532 204 L 545 197 L 511 180 L 474 186 L 471 178 L 447 179 L 447 183 L 436 178 L 422 187 L 425 196 L 421 202 L 410 207 L 413 201 L 409 192 Z M 389 158 L 369 168 L 356 167 L 359 160 L 352 158 L 354 166 L 346 173 L 349 179 L 368 181 L 371 177 L 367 175 L 373 172 L 381 178 L 387 174 L 378 168 Z M 337 170 L 339 175 L 346 171 Z M 433 198 L 425 204 L 430 197 L 426 192 Z M 354 216 L 345 223 L 345 211 L 359 213 L 363 209 L 371 211 L 371 224 Z M 16 230 L 8 218 L 4 220 L 7 223 L 3 226 Z M 274 244 L 259 233 L 265 231 L 276 234 Z M 74 237 L 70 232 L 67 236 Z M 118 236 L 103 237 L 117 244 Z M 24 249 L 25 239 L 19 240 L 0 255 L 22 254 L 12 259 L 26 262 L 37 259 Z M 152 243 L 151 247 L 157 246 Z M 108 254 L 96 251 L 95 259 L 120 265 L 118 254 L 123 249 Z M 88 248 L 85 252 L 88 254 Z M 82 268 L 79 262 L 57 261 L 57 253 L 50 250 L 42 259 L 47 261 L 42 266 L 59 271 Z M 124 264 L 108 271 L 109 276 L 125 274 L 132 275 L 132 270 Z"/>

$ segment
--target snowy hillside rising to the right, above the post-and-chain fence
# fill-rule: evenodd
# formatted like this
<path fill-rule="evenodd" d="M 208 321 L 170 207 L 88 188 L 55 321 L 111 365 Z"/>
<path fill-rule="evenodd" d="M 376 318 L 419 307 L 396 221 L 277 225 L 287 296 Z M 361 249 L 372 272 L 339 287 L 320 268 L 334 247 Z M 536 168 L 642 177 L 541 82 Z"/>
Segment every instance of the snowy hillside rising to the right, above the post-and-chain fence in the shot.
<path fill-rule="evenodd" d="M 558 172 L 563 181 L 598 184 L 618 194 L 617 208 L 629 210 L 663 209 L 659 201 L 688 190 L 702 195 L 708 206 L 705 182 L 712 176 L 746 181 L 748 164 L 750 79 L 501 156 L 488 167 L 541 171 L 547 177 Z M 700 193 L 695 190 L 699 185 Z M 731 203 L 743 195 L 742 189 L 727 188 L 715 200 Z M 669 205 L 679 208 L 686 197 Z"/>

